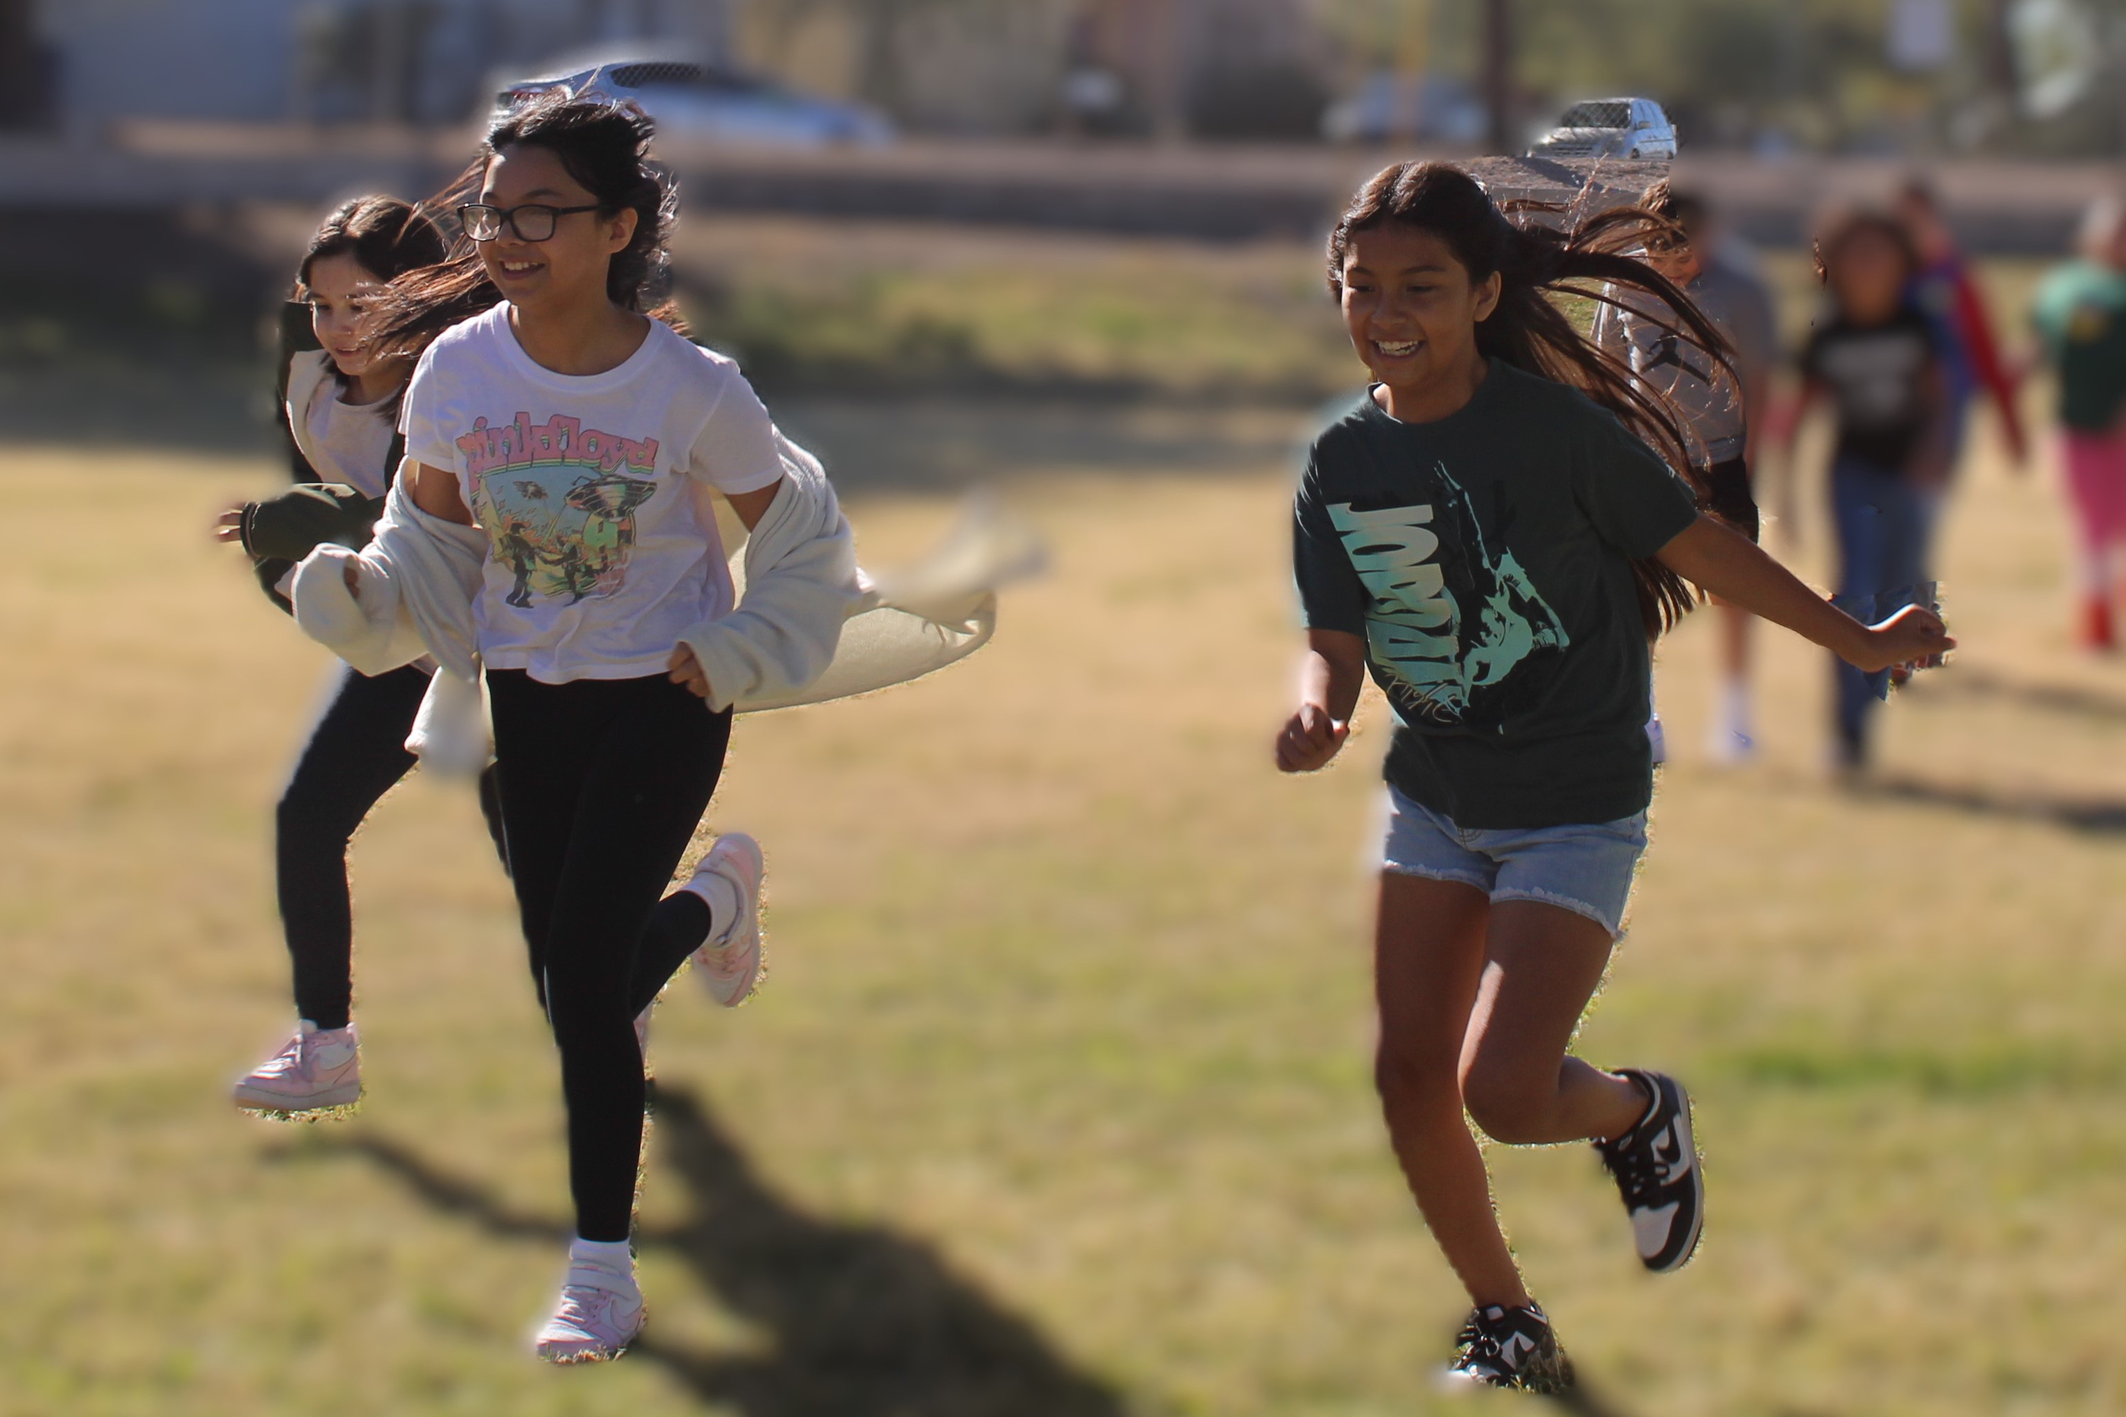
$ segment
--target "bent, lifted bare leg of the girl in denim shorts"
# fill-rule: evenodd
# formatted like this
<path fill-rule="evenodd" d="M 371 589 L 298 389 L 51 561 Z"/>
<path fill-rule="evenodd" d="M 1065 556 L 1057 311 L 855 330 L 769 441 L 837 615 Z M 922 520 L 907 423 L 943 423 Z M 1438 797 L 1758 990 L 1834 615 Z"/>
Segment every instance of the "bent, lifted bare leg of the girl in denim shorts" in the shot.
<path fill-rule="evenodd" d="M 1626 1077 L 1569 1056 L 1609 964 L 1609 931 L 1537 901 L 1490 907 L 1484 973 L 1461 1054 L 1469 1115 L 1495 1141 L 1612 1139 L 1652 1098 Z"/>

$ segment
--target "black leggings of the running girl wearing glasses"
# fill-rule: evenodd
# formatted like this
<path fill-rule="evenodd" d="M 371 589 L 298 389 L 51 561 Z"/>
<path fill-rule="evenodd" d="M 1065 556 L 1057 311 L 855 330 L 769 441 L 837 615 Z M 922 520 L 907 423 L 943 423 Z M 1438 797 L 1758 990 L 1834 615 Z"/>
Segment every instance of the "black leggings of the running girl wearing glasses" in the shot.
<path fill-rule="evenodd" d="M 731 741 L 663 676 L 540 684 L 489 669 L 510 877 L 532 979 L 561 1049 L 576 1234 L 625 1241 L 642 1160 L 634 1018 L 708 937 L 710 911 L 665 894 Z"/>

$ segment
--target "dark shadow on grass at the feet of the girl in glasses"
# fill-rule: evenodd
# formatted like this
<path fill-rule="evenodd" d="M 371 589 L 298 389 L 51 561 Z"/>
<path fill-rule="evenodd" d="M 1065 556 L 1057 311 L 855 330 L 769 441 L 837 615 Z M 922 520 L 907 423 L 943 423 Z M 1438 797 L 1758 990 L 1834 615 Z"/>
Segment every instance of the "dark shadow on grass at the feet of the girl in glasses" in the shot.
<path fill-rule="evenodd" d="M 497 1239 L 568 1234 L 553 1215 L 512 1211 L 387 1137 L 334 1149 L 359 1151 L 432 1209 Z M 778 1196 L 691 1092 L 659 1090 L 655 1154 L 687 1185 L 693 1219 L 640 1230 L 636 1249 L 680 1256 L 772 1336 L 765 1353 L 695 1353 L 659 1343 L 655 1328 L 636 1343 L 636 1355 L 665 1364 L 704 1402 L 746 1417 L 1123 1417 L 1108 1385 L 1076 1372 L 929 1245 Z"/>

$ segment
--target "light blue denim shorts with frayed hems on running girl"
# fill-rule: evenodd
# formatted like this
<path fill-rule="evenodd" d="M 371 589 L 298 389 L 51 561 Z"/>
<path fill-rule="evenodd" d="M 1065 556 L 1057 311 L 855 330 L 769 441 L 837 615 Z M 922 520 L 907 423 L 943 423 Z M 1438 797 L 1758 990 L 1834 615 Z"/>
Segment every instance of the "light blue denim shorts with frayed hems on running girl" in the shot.
<path fill-rule="evenodd" d="M 1382 869 L 1475 886 L 1492 901 L 1541 901 L 1624 937 L 1631 880 L 1646 852 L 1646 814 L 1569 826 L 1456 826 L 1388 788 Z"/>

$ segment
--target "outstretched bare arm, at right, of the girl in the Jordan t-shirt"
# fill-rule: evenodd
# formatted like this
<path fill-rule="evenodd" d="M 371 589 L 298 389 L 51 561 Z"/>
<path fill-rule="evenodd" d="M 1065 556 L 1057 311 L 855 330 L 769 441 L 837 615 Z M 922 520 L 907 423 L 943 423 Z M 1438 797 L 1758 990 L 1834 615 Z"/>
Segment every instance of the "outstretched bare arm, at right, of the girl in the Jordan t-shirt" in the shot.
<path fill-rule="evenodd" d="M 1711 516 L 1701 514 L 1656 557 L 1684 580 L 1813 639 L 1865 673 L 1956 648 L 1941 616 L 1924 605 L 1907 605 L 1882 625 L 1860 625 Z"/>

